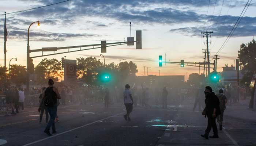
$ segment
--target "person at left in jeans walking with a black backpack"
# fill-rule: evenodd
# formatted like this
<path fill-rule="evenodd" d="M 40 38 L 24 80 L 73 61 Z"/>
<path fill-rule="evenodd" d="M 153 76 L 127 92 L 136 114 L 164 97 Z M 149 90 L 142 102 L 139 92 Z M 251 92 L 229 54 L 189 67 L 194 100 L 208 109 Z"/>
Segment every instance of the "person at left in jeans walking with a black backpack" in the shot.
<path fill-rule="evenodd" d="M 52 127 L 52 133 L 53 134 L 56 133 L 54 120 L 57 114 L 57 99 L 61 99 L 61 96 L 58 89 L 53 86 L 54 81 L 51 78 L 49 79 L 48 84 L 49 84 L 49 87 L 47 87 L 42 94 L 42 99 L 44 99 L 42 101 L 44 102 L 41 102 L 40 107 L 38 108 L 38 111 L 41 111 L 42 104 L 46 106 L 50 114 L 50 120 L 47 126 L 45 127 L 44 132 L 47 135 L 52 136 L 52 134 L 50 134 L 50 127 Z"/>

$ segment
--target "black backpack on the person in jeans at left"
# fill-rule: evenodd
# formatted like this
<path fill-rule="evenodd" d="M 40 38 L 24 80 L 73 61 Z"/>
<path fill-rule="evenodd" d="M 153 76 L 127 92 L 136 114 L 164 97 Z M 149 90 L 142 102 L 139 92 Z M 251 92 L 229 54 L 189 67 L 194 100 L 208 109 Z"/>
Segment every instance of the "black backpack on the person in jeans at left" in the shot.
<path fill-rule="evenodd" d="M 56 93 L 52 90 L 52 88 L 53 87 L 48 87 L 45 90 L 44 104 L 46 107 L 53 107 L 53 105 L 57 103 Z"/>

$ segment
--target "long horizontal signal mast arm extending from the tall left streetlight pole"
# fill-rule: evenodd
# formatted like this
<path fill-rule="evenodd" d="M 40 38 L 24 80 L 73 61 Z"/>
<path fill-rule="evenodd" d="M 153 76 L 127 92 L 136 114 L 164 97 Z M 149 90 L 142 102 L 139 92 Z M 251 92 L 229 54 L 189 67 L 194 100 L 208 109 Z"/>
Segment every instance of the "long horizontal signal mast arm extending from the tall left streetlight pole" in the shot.
<path fill-rule="evenodd" d="M 136 41 L 134 41 L 134 42 L 136 42 Z M 106 43 L 106 45 L 109 45 L 107 47 L 119 46 L 119 45 L 125 45 L 125 44 L 127 44 L 127 42 Z M 99 46 L 99 47 L 94 47 L 94 46 Z M 81 49 L 81 47 L 92 47 L 92 48 Z M 69 49 L 73 49 L 73 48 L 80 48 L 80 49 L 79 50 L 69 51 Z M 71 52 L 84 51 L 84 50 L 92 50 L 92 49 L 99 49 L 99 48 L 101 48 L 101 44 L 82 45 L 82 46 L 69 46 L 69 47 L 49 47 L 49 48 L 30 50 L 30 53 L 31 52 L 42 52 L 42 55 L 40 55 L 40 56 L 33 56 L 33 57 L 31 57 L 31 58 L 37 58 L 37 57 L 44 57 L 44 56 L 50 56 L 50 55 L 71 53 Z M 57 50 L 61 50 L 61 49 L 68 49 L 68 51 L 56 53 Z M 44 55 L 43 54 L 44 51 L 54 51 L 54 53 L 53 54 L 46 54 L 46 55 Z"/>

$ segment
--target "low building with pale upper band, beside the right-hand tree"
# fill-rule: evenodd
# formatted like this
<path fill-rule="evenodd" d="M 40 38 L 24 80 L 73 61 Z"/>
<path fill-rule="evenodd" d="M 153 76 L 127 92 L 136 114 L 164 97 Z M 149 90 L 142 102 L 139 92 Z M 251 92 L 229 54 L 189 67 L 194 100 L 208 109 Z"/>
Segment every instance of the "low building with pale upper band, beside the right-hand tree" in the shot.
<path fill-rule="evenodd" d="M 234 66 L 226 66 L 226 67 L 222 67 L 223 71 L 220 72 L 220 82 L 223 85 L 227 85 L 227 84 L 237 84 L 237 70 L 236 67 Z M 243 77 L 241 70 L 239 70 L 239 79 L 241 80 Z"/>

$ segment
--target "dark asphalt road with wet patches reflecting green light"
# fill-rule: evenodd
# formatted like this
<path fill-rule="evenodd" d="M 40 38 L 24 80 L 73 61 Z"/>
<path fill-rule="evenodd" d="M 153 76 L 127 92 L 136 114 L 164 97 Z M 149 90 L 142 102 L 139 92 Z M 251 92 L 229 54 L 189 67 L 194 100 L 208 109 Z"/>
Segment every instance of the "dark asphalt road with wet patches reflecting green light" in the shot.
<path fill-rule="evenodd" d="M 192 112 L 191 106 L 134 108 L 131 122 L 124 120 L 124 113 L 117 105 L 60 106 L 57 133 L 48 137 L 43 132 L 45 117 L 39 124 L 36 108 L 25 109 L 15 116 L 0 116 L 0 139 L 7 141 L 3 146 L 256 146 L 256 123 L 229 117 L 224 117 L 220 138 L 200 137 L 207 119 Z M 177 131 L 172 130 L 174 124 Z"/>

